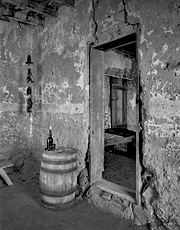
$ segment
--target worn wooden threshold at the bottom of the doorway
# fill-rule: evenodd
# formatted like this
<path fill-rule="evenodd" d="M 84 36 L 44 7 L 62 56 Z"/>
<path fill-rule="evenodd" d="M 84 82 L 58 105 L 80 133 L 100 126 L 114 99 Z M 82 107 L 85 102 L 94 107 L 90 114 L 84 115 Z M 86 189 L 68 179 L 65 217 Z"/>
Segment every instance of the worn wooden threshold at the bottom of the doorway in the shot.
<path fill-rule="evenodd" d="M 115 184 L 104 179 L 94 181 L 92 185 L 103 191 L 117 195 L 120 198 L 136 203 L 136 190 Z"/>

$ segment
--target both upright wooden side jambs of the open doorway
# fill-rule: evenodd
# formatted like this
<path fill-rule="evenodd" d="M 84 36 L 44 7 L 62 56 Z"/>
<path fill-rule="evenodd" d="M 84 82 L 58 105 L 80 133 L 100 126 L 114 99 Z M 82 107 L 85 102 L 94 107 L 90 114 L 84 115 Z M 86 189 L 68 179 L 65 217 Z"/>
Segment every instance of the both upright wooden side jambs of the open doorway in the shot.
<path fill-rule="evenodd" d="M 133 31 L 134 33 L 134 31 Z M 125 35 L 121 37 L 125 37 Z M 141 205 L 141 165 L 139 148 L 139 114 L 140 114 L 140 76 L 139 44 L 140 27 L 136 28 L 136 203 Z M 118 38 L 117 38 L 118 39 Z M 104 170 L 104 67 L 105 52 L 92 47 L 90 51 L 90 183 L 102 179 Z M 121 194 L 119 194 L 121 196 Z"/>

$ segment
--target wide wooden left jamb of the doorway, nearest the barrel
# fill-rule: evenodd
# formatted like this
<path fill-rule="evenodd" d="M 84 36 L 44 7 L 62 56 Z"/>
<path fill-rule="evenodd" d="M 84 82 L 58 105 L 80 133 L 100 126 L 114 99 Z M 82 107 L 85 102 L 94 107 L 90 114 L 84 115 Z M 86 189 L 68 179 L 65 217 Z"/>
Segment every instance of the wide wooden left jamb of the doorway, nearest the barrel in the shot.
<path fill-rule="evenodd" d="M 90 181 L 104 170 L 104 52 L 91 50 L 90 57 Z"/>

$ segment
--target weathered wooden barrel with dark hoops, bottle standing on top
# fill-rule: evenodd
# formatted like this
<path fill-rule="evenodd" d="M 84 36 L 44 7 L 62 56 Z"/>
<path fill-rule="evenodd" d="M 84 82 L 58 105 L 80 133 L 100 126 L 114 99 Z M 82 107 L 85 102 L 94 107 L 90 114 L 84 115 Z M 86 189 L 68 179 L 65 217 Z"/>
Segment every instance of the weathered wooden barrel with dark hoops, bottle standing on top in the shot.
<path fill-rule="evenodd" d="M 76 150 L 44 151 L 39 183 L 43 206 L 59 209 L 72 205 L 77 185 Z"/>

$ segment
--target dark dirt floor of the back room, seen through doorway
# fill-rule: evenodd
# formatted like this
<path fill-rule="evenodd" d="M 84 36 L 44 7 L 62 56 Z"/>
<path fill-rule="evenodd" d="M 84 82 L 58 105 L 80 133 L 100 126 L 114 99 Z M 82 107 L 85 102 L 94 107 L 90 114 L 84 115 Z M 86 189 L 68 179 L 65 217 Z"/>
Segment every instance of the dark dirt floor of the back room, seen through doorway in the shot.
<path fill-rule="evenodd" d="M 103 178 L 107 181 L 136 189 L 136 160 L 120 150 L 106 150 Z"/>

